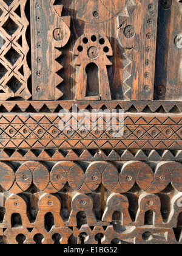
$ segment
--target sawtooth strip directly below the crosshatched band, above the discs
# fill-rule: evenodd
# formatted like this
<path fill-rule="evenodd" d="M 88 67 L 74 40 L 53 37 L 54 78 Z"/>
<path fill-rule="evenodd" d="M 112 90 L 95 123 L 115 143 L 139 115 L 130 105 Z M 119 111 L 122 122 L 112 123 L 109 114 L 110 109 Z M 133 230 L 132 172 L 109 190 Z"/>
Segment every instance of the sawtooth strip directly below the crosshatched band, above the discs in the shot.
<path fill-rule="evenodd" d="M 2 161 L 182 161 L 182 150 L 135 149 L 2 149 Z"/>

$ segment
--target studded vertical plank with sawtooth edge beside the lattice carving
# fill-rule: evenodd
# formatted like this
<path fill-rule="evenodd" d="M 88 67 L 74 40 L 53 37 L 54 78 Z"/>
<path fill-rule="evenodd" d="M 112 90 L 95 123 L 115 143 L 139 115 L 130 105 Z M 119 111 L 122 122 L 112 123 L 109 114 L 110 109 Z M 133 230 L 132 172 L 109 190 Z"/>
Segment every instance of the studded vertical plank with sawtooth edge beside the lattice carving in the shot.
<path fill-rule="evenodd" d="M 70 38 L 70 19 L 61 18 L 62 5 L 53 7 L 50 0 L 30 1 L 32 38 L 32 94 L 33 100 L 55 100 L 62 96 L 57 74 L 62 66 L 56 61 Z M 59 16 L 60 15 L 60 16 Z"/>

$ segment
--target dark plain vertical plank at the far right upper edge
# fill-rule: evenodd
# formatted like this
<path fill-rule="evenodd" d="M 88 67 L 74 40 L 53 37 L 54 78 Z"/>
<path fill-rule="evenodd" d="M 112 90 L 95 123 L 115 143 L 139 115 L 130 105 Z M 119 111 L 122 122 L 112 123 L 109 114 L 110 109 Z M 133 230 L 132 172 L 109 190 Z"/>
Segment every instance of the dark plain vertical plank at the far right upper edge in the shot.
<path fill-rule="evenodd" d="M 155 99 L 181 100 L 182 2 L 159 3 Z"/>

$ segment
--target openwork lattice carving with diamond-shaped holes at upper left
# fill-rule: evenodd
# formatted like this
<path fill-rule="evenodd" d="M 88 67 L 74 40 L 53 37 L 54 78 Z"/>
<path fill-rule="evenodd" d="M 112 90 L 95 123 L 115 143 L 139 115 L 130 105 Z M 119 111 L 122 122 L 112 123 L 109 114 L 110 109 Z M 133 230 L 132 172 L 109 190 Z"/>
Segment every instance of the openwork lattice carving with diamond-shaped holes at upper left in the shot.
<path fill-rule="evenodd" d="M 25 15 L 26 0 L 0 1 L 0 94 L 1 100 L 21 97 L 29 99 L 30 69 L 27 64 L 26 32 L 29 21 Z"/>

